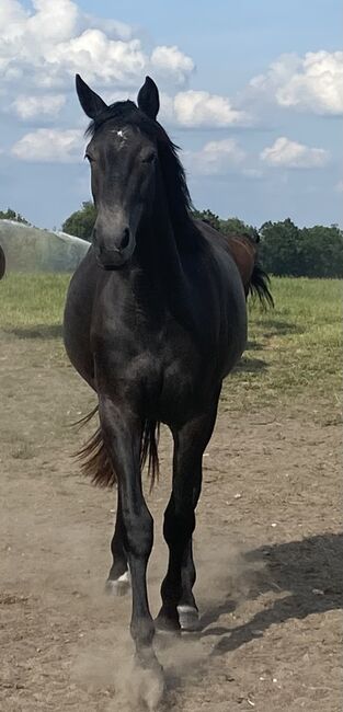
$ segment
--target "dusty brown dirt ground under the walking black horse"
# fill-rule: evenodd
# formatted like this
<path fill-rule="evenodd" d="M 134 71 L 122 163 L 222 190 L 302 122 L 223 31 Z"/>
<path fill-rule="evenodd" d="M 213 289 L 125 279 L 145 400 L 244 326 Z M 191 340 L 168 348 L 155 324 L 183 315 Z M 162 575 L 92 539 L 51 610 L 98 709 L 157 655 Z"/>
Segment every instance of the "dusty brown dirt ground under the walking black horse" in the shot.
<path fill-rule="evenodd" d="M 115 495 L 82 480 L 71 459 L 84 434 L 69 424 L 93 401 L 55 337 L 48 330 L 1 334 L 0 709 L 144 709 L 129 597 L 104 594 Z M 333 410 L 304 398 L 260 412 L 222 405 L 204 458 L 195 537 L 203 631 L 157 640 L 167 679 L 157 709 L 342 710 Z M 161 514 L 169 486 L 163 433 L 161 480 L 148 497 L 153 612 L 167 563 Z"/>

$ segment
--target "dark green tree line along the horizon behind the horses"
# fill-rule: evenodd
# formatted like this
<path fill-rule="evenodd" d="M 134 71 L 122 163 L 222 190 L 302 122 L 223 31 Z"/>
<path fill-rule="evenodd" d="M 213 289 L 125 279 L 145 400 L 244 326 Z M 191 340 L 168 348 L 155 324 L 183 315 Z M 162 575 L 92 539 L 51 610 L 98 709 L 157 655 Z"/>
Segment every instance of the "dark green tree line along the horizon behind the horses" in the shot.
<path fill-rule="evenodd" d="M 195 218 L 224 234 L 248 234 L 260 242 L 260 261 L 266 272 L 288 277 L 343 277 L 343 230 L 338 225 L 298 228 L 293 220 L 268 220 L 259 229 L 239 218 L 219 218 L 211 210 L 194 210 Z M 96 211 L 90 200 L 82 203 L 62 223 L 62 230 L 91 240 Z M 27 223 L 11 208 L 0 210 L 0 219 Z"/>

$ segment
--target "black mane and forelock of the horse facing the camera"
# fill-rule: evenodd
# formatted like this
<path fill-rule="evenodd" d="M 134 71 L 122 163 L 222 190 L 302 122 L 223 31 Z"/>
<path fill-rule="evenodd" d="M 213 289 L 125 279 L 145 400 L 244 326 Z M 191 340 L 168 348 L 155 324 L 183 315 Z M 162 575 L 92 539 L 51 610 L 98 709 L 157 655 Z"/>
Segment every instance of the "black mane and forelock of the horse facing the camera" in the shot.
<path fill-rule="evenodd" d="M 193 204 L 186 184 L 185 171 L 178 156 L 180 148 L 171 141 L 164 128 L 158 122 L 146 116 L 134 102 L 128 100 L 115 102 L 101 112 L 90 123 L 85 136 L 93 137 L 96 130 L 108 120 L 115 122 L 119 129 L 133 126 L 156 141 L 170 219 L 175 229 L 175 239 L 178 240 L 178 233 L 180 231 L 184 233 L 185 229 L 188 234 L 196 233 L 198 236 L 198 230 L 190 215 Z"/>

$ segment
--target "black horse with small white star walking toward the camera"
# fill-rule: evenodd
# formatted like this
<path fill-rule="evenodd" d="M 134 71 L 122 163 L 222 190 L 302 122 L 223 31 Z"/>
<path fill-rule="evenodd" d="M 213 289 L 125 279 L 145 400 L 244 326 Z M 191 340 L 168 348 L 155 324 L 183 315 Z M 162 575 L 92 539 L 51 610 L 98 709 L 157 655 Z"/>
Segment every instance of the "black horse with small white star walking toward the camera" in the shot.
<path fill-rule="evenodd" d="M 192 218 L 176 148 L 156 120 L 153 81 L 147 77 L 138 106 L 107 106 L 79 76 L 77 92 L 92 119 L 85 157 L 98 217 L 70 283 L 65 344 L 99 400 L 100 427 L 83 448 L 83 467 L 95 483 L 118 486 L 107 586 L 121 593 L 130 579 L 132 635 L 139 658 L 156 664 L 156 627 L 194 630 L 198 621 L 192 535 L 202 456 L 222 379 L 245 347 L 245 295 L 228 239 Z M 271 299 L 258 266 L 254 284 Z M 153 482 L 160 423 L 171 429 L 174 453 L 163 527 L 169 565 L 153 622 L 146 582 L 153 522 L 141 470 L 148 459 Z"/>

